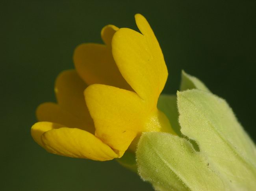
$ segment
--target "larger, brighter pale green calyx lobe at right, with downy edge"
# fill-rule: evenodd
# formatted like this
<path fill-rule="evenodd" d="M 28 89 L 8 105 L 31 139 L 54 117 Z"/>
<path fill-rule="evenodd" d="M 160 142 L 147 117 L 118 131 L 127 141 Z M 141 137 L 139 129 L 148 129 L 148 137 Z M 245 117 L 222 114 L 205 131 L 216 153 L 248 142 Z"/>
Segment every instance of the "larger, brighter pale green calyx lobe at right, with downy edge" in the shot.
<path fill-rule="evenodd" d="M 178 93 L 179 122 L 209 163 L 237 190 L 256 187 L 256 150 L 225 100 L 200 90 Z"/>

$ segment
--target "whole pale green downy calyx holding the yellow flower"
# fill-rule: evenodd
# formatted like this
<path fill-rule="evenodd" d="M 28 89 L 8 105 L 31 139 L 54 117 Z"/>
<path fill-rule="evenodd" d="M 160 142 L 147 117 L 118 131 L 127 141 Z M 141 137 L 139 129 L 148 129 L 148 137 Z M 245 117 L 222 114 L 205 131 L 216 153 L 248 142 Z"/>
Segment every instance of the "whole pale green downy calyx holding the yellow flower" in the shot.
<path fill-rule="evenodd" d="M 180 136 L 143 133 L 136 153 L 139 175 L 159 191 L 255 190 L 256 147 L 232 109 L 197 78 L 183 73 L 182 83 L 183 90 L 190 90 L 177 92 L 176 120 L 182 135 L 194 140 L 200 151 Z M 162 111 L 167 117 L 177 115 L 171 99 L 158 104 L 166 106 Z M 173 126 L 175 119 L 168 118 Z"/>

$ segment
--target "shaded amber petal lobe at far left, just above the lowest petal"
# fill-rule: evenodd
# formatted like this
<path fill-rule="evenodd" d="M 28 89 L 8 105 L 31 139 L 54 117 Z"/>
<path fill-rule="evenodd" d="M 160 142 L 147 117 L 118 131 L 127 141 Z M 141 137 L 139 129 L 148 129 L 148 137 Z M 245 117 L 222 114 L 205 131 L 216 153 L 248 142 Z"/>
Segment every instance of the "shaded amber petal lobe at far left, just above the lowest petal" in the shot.
<path fill-rule="evenodd" d="M 63 127 L 76 127 L 94 133 L 93 121 L 86 117 L 78 117 L 65 109 L 62 109 L 55 103 L 43 103 L 37 107 L 36 111 L 38 121 L 48 121 L 62 124 Z M 89 115 L 89 113 L 88 113 Z M 91 116 L 90 116 L 91 118 Z"/>

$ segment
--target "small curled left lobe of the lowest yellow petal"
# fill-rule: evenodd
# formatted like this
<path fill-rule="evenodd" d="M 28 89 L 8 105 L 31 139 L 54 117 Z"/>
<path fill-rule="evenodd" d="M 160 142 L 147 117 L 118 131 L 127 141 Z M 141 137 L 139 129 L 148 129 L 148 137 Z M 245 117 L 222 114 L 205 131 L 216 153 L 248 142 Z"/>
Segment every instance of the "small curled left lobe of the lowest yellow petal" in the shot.
<path fill-rule="evenodd" d="M 41 147 L 44 147 L 41 141 L 41 135 L 43 135 L 43 133 L 46 131 L 58 129 L 60 127 L 63 126 L 52 122 L 37 122 L 31 127 L 31 135 L 37 144 L 39 144 Z"/>

